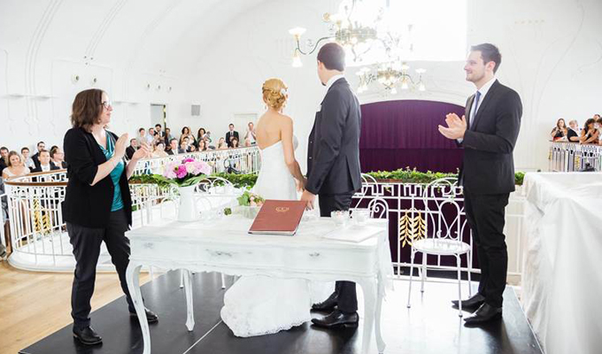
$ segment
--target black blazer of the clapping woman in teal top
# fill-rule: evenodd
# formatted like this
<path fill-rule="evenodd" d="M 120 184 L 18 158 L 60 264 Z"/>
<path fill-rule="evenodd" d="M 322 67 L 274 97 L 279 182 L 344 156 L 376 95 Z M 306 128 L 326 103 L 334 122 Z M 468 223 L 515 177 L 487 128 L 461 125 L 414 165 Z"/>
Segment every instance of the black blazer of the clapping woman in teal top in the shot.
<path fill-rule="evenodd" d="M 117 142 L 117 135 L 107 133 L 112 136 L 113 142 Z M 69 178 L 63 203 L 63 219 L 82 227 L 105 227 L 111 213 L 115 189 L 111 175 L 90 186 L 98 171 L 98 165 L 106 162 L 103 150 L 94 136 L 80 127 L 67 130 L 63 149 Z M 131 225 L 132 196 L 129 194 L 126 169 L 120 177 L 120 188 L 127 223 Z"/>

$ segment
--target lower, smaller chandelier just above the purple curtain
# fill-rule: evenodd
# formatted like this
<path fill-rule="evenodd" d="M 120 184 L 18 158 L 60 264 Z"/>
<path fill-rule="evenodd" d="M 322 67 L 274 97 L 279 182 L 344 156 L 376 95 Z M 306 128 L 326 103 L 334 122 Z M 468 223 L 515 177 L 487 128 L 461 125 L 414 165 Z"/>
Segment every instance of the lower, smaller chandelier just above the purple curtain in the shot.
<path fill-rule="evenodd" d="M 357 72 L 359 77 L 358 93 L 367 91 L 368 85 L 373 81 L 379 82 L 388 92 L 392 95 L 397 94 L 397 87 L 402 90 L 418 89 L 419 91 L 426 91 L 426 86 L 422 81 L 422 74 L 426 73 L 425 69 L 416 69 L 418 74 L 417 80 L 413 80 L 412 76 L 408 73 L 410 66 L 399 62 L 388 62 L 380 65 L 375 65 L 375 68 L 362 67 Z"/>

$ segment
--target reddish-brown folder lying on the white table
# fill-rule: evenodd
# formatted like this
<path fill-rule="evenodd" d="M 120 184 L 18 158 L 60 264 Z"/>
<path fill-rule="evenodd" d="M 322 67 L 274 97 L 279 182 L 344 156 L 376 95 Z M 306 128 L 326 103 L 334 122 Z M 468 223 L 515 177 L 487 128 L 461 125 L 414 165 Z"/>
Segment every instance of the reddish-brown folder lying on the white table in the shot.
<path fill-rule="evenodd" d="M 305 202 L 266 200 L 259 210 L 249 234 L 295 235 L 305 212 Z"/>

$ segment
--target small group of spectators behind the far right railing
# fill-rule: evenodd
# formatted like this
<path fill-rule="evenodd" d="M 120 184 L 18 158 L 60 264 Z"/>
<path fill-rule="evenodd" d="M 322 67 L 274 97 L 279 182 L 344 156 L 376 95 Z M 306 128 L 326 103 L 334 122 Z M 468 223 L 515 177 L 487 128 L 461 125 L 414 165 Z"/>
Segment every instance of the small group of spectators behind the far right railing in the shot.
<path fill-rule="evenodd" d="M 554 142 L 578 142 L 581 144 L 602 145 L 602 118 L 599 114 L 594 114 L 590 119 L 585 120 L 583 127 L 573 119 L 568 122 L 565 119 L 558 119 L 556 127 L 550 132 L 550 137 Z"/>

